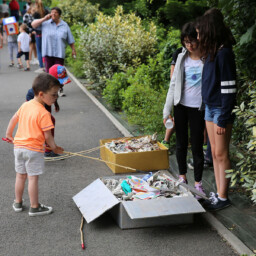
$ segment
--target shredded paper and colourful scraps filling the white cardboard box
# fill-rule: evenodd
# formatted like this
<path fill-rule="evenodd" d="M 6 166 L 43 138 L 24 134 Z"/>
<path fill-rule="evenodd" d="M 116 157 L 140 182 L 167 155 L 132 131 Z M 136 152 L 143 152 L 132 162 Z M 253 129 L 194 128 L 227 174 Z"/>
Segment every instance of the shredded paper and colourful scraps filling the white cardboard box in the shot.
<path fill-rule="evenodd" d="M 179 182 L 161 171 L 142 178 L 127 176 L 125 179 L 104 178 L 102 182 L 120 201 L 147 200 L 187 196 L 179 189 Z"/>

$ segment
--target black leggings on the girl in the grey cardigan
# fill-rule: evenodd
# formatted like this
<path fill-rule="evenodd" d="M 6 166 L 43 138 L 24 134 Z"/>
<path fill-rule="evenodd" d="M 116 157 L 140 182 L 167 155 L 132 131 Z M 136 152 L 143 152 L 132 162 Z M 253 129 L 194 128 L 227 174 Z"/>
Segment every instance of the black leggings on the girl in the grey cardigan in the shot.
<path fill-rule="evenodd" d="M 204 168 L 204 111 L 198 108 L 185 107 L 181 104 L 174 107 L 176 128 L 176 157 L 180 175 L 187 173 L 188 127 L 194 162 L 194 178 L 201 181 Z"/>

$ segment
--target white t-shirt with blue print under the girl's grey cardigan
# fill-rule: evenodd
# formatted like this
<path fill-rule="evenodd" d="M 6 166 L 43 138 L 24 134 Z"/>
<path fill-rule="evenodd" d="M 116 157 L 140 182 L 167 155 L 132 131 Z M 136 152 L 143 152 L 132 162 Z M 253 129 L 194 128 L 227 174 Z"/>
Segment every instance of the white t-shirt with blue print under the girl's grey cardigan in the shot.
<path fill-rule="evenodd" d="M 188 56 L 185 59 L 184 68 L 185 84 L 180 104 L 186 107 L 200 108 L 202 103 L 201 79 L 203 62 L 201 60 L 193 60 Z"/>

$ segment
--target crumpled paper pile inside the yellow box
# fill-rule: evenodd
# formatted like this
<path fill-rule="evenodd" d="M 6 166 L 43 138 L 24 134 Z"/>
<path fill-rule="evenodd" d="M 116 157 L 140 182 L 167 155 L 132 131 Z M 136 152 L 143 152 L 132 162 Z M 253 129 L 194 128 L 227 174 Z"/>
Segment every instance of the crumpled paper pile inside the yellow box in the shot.
<path fill-rule="evenodd" d="M 148 135 L 129 140 L 127 140 L 127 138 L 113 140 L 105 143 L 105 147 L 116 154 L 160 150 L 156 140 L 157 135 L 155 133 L 152 136 Z"/>

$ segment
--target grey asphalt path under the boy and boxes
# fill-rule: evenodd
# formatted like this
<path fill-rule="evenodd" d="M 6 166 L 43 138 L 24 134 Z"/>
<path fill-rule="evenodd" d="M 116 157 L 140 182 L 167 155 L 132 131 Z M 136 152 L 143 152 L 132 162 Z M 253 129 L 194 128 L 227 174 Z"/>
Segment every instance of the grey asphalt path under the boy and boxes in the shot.
<path fill-rule="evenodd" d="M 0 50 L 0 135 L 5 136 L 8 121 L 24 102 L 36 76 L 33 72 L 7 67 L 7 47 Z M 36 69 L 33 67 L 32 69 Z M 65 150 L 78 152 L 99 145 L 102 138 L 122 137 L 112 122 L 75 83 L 65 86 L 67 97 L 60 98 L 56 118 L 56 141 Z M 49 216 L 29 217 L 25 189 L 25 210 L 15 213 L 14 157 L 12 146 L 0 144 L 0 256 L 233 256 L 228 244 L 196 216 L 190 225 L 121 230 L 108 214 L 85 224 L 87 249 L 81 250 L 81 214 L 72 197 L 101 176 L 113 175 L 101 162 L 73 157 L 47 162 L 39 179 L 40 202 L 53 206 Z M 98 153 L 92 156 L 98 157 Z"/>

